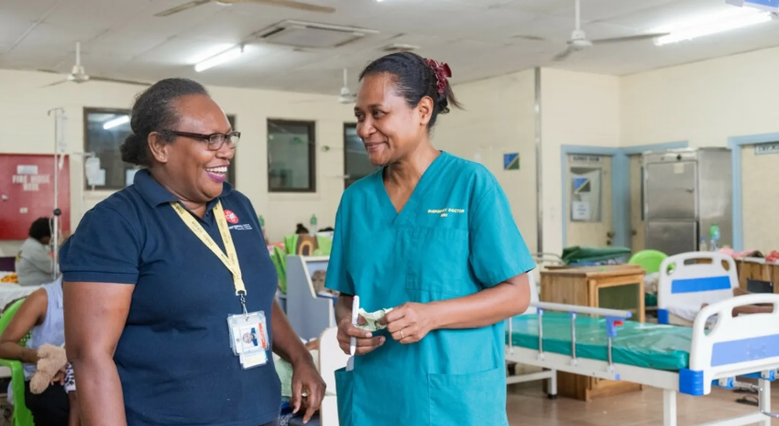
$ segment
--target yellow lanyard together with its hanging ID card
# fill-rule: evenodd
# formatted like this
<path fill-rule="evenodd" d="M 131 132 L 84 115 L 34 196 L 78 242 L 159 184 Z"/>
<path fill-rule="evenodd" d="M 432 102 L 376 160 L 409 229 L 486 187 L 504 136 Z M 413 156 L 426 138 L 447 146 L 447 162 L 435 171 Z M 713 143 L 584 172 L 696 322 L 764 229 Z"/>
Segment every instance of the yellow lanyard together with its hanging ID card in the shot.
<path fill-rule="evenodd" d="M 270 348 L 266 316 L 263 311 L 249 313 L 246 309 L 246 287 L 241 276 L 241 266 L 238 264 L 238 253 L 235 251 L 230 228 L 227 226 L 227 218 L 224 217 L 222 202 L 217 202 L 213 212 L 224 243 L 224 250 L 227 253 L 222 252 L 217 243 L 206 232 L 206 229 L 203 229 L 197 219 L 181 204 L 171 203 L 171 206 L 182 218 L 185 225 L 222 261 L 232 274 L 235 295 L 241 302 L 242 310 L 241 314 L 227 316 L 227 329 L 230 331 L 230 348 L 233 354 L 238 356 L 243 368 L 265 365 L 268 362 L 266 351 Z"/>

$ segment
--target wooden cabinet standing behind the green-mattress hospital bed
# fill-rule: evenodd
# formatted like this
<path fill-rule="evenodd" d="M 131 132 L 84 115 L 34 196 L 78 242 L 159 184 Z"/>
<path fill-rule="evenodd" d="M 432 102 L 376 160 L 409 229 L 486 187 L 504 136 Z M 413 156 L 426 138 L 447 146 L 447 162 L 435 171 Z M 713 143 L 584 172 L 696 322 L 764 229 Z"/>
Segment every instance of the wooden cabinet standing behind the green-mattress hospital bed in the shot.
<path fill-rule="evenodd" d="M 630 320 L 644 321 L 643 277 L 639 265 L 602 267 L 554 267 L 541 271 L 541 301 L 628 310 Z M 561 396 L 589 401 L 600 396 L 640 390 L 630 382 L 595 379 L 566 372 L 557 373 Z"/>

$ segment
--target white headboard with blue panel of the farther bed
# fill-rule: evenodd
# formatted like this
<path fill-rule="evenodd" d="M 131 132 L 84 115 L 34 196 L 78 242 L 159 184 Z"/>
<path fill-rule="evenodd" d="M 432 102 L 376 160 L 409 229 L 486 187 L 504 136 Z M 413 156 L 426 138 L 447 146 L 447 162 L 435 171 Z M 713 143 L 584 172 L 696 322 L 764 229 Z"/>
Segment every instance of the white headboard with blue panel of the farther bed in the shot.
<path fill-rule="evenodd" d="M 733 257 L 717 252 L 691 252 L 666 257 L 657 283 L 657 322 L 692 326 L 703 303 L 733 297 L 738 272 Z"/>

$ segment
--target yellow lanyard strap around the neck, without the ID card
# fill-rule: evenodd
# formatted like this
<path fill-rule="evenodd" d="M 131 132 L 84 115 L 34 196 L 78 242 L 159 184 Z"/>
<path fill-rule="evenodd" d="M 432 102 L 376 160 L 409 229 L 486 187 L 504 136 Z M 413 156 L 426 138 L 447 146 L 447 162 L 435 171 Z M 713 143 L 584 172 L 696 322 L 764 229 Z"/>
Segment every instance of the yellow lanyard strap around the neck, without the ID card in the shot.
<path fill-rule="evenodd" d="M 241 278 L 241 267 L 238 264 L 238 253 L 235 252 L 233 237 L 230 235 L 230 229 L 227 227 L 227 218 L 224 217 L 224 211 L 222 210 L 222 201 L 218 201 L 217 205 L 214 206 L 213 214 L 217 219 L 217 226 L 219 227 L 219 233 L 222 236 L 224 250 L 227 251 L 227 255 L 222 253 L 222 250 L 219 248 L 213 238 L 211 238 L 208 232 L 206 232 L 206 229 L 203 229 L 203 226 L 197 222 L 197 219 L 192 217 L 189 211 L 183 208 L 181 204 L 171 203 L 171 206 L 173 206 L 176 213 L 178 213 L 178 216 L 182 218 L 182 221 L 184 221 L 185 225 L 187 225 L 187 227 L 195 233 L 200 241 L 203 241 L 203 244 L 205 244 L 206 247 L 208 247 L 213 252 L 213 254 L 216 254 L 217 257 L 219 257 L 219 260 L 221 260 L 224 266 L 226 266 L 227 269 L 230 270 L 230 272 L 233 274 L 235 295 L 238 295 L 238 297 L 241 298 L 241 306 L 243 306 L 244 313 L 246 313 L 246 287 L 244 285 L 243 278 Z"/>

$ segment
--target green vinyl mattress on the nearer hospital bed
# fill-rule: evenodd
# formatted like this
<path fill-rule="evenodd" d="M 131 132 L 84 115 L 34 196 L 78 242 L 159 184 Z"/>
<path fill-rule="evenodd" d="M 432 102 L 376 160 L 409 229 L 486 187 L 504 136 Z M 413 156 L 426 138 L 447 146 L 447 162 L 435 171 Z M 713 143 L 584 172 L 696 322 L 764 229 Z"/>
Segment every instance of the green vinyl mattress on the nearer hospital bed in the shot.
<path fill-rule="evenodd" d="M 571 319 L 567 313 L 545 312 L 544 351 L 571 354 Z M 511 319 L 512 344 L 538 350 L 538 314 Z M 656 370 L 679 371 L 689 364 L 693 328 L 625 321 L 612 339 L 612 361 Z M 506 344 L 509 343 L 506 326 Z M 606 319 L 576 316 L 576 357 L 608 361 Z"/>

